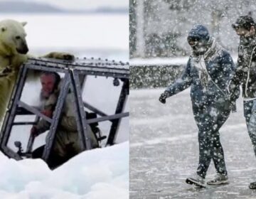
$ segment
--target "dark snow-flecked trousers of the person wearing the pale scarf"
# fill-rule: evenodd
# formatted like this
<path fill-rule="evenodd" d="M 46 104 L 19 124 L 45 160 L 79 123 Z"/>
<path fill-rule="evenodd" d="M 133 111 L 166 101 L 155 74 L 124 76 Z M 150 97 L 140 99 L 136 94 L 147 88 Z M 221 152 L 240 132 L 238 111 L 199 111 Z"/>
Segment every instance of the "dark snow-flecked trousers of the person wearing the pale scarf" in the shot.
<path fill-rule="evenodd" d="M 198 126 L 199 163 L 197 174 L 205 178 L 210 161 L 213 159 L 216 172 L 228 175 L 219 129 L 228 119 L 230 109 L 223 109 L 216 107 L 214 103 L 209 103 L 201 107 L 194 106 L 193 114 Z"/>

